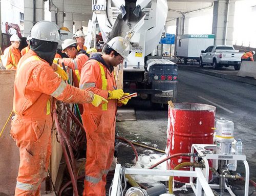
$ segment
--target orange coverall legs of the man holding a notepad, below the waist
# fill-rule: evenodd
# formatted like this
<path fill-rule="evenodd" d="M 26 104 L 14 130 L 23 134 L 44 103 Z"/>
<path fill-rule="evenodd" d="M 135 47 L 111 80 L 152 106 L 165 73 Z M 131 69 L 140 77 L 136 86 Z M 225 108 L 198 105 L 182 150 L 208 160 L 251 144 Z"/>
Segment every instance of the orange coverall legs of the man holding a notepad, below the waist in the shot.
<path fill-rule="evenodd" d="M 91 115 L 84 113 L 82 119 L 87 134 L 86 176 L 100 179 L 98 183 L 84 181 L 83 196 L 104 196 L 106 173 L 114 155 L 115 114 Z M 99 122 L 100 121 L 100 122 Z M 98 127 L 96 126 L 97 124 Z M 110 156 L 111 154 L 111 156 Z"/>

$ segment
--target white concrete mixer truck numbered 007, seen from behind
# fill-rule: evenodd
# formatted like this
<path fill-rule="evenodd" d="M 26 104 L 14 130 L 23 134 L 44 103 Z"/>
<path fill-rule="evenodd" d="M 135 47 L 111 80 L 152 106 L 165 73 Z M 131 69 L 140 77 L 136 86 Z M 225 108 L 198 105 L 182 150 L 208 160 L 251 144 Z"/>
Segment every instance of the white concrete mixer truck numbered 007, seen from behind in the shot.
<path fill-rule="evenodd" d="M 123 89 L 152 103 L 176 101 L 177 65 L 155 50 L 163 35 L 166 0 L 92 0 L 104 42 L 116 36 L 130 40 L 129 61 L 123 64 Z"/>

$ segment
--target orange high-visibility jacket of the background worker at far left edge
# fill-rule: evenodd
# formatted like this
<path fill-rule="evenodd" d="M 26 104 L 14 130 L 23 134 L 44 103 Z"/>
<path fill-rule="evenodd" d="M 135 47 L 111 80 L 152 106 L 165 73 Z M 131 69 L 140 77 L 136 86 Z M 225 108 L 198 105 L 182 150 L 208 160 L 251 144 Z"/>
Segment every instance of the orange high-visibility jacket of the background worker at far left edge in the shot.
<path fill-rule="evenodd" d="M 5 49 L 4 55 L 2 56 L 4 67 L 7 70 L 16 70 L 20 57 L 19 49 L 14 49 L 12 46 L 9 46 Z"/>

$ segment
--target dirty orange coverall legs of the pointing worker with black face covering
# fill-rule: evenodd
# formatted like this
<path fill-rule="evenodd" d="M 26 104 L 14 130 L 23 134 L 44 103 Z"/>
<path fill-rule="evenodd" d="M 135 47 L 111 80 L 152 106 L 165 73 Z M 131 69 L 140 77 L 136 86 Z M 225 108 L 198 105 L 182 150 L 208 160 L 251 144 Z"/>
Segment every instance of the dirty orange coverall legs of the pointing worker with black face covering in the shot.
<path fill-rule="evenodd" d="M 19 170 L 15 196 L 40 195 L 41 182 L 47 176 L 51 151 L 51 118 L 23 120 L 26 137 L 17 135 L 19 144 Z M 15 128 L 13 130 L 15 132 Z M 32 136 L 33 135 L 33 136 Z M 36 136 L 35 136 L 36 135 Z"/>

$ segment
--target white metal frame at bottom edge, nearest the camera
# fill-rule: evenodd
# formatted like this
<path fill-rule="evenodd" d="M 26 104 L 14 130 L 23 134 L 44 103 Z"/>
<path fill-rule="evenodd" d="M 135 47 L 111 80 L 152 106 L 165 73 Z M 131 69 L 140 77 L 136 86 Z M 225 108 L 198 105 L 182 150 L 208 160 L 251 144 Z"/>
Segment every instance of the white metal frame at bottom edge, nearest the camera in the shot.
<path fill-rule="evenodd" d="M 112 182 L 112 189 L 110 196 L 121 195 L 121 181 L 120 178 L 124 173 L 129 175 L 152 175 L 152 176 L 178 176 L 178 177 L 190 177 L 197 178 L 196 186 L 193 184 L 193 191 L 196 196 L 202 196 L 202 189 L 206 196 L 214 196 L 208 182 L 205 180 L 203 172 L 200 168 L 196 168 L 195 171 L 184 170 L 160 170 L 160 169 L 138 169 L 138 168 L 122 168 L 120 164 L 116 165 L 115 175 Z M 192 185 L 191 185 L 192 186 Z"/>

